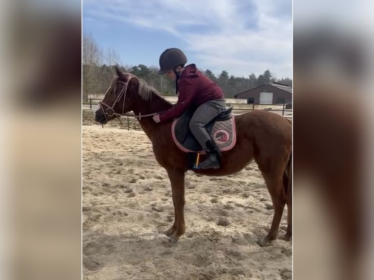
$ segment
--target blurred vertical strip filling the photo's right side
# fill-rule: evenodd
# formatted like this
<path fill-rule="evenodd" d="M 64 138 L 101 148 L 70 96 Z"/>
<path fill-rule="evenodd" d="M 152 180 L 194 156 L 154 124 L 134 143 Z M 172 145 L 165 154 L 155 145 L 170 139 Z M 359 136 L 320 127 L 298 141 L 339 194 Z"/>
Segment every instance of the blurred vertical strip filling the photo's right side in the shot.
<path fill-rule="evenodd" d="M 294 1 L 294 279 L 374 279 L 373 34 L 362 4 Z"/>

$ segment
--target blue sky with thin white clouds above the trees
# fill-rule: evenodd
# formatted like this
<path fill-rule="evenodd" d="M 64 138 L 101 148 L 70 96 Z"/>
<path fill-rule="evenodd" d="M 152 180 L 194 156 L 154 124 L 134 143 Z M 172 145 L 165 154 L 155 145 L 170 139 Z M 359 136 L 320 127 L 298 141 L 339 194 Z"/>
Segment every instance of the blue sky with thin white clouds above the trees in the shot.
<path fill-rule="evenodd" d="M 178 47 L 217 75 L 292 77 L 291 0 L 83 0 L 83 31 L 124 65 Z"/>

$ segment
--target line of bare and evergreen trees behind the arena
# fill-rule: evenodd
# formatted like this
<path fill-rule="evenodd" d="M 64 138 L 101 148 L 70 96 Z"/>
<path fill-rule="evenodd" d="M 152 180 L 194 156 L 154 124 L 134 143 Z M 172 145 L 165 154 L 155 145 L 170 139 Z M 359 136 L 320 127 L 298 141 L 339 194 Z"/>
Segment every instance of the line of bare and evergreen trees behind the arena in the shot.
<path fill-rule="evenodd" d="M 157 67 L 143 64 L 122 65 L 120 56 L 114 49 L 104 51 L 92 36 L 85 32 L 83 33 L 82 62 L 83 98 L 86 98 L 89 93 L 105 93 L 115 74 L 113 65 L 145 80 L 163 95 L 175 95 L 175 83 L 167 80 L 164 76 L 157 75 Z M 276 79 L 269 69 L 258 77 L 252 73 L 247 78 L 234 77 L 229 75 L 226 70 L 223 70 L 218 77 L 209 69 L 202 70 L 202 72 L 222 88 L 226 98 L 232 98 L 239 92 L 268 82 L 280 82 L 292 86 L 290 78 Z"/>

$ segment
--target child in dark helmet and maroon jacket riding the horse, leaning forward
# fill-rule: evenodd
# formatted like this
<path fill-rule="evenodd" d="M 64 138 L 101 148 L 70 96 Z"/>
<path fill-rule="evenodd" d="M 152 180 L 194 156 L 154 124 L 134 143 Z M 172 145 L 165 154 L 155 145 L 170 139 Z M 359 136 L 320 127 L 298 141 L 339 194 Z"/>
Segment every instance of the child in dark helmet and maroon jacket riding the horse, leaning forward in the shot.
<path fill-rule="evenodd" d="M 186 55 L 178 48 L 166 49 L 160 56 L 159 75 L 175 80 L 177 103 L 166 112 L 155 115 L 155 122 L 164 122 L 180 117 L 190 106 L 197 107 L 189 122 L 189 128 L 202 148 L 207 160 L 201 162 L 202 169 L 219 168 L 218 153 L 205 129 L 210 120 L 225 109 L 222 89 L 199 71 L 195 64 L 187 63 Z"/>

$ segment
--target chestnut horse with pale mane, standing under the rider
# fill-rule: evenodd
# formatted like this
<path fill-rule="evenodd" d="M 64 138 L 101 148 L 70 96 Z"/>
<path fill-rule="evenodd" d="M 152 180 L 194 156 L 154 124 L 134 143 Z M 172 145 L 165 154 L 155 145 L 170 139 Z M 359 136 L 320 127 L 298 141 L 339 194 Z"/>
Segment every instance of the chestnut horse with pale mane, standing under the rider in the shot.
<path fill-rule="evenodd" d="M 186 231 L 185 173 L 187 153 L 174 143 L 172 121 L 155 123 L 152 115 L 165 111 L 172 104 L 158 91 L 131 74 L 122 73 L 117 67 L 115 77 L 95 111 L 95 120 L 105 124 L 120 115 L 133 111 L 145 134 L 151 140 L 157 162 L 166 169 L 171 184 L 174 204 L 174 223 L 166 231 L 171 242 L 176 242 Z M 219 169 L 200 169 L 194 172 L 208 176 L 226 176 L 239 172 L 255 160 L 264 177 L 274 206 L 274 216 L 267 236 L 259 242 L 268 246 L 276 239 L 285 204 L 288 205 L 288 226 L 285 240 L 292 235 L 291 210 L 291 121 L 267 111 L 252 111 L 235 116 L 236 144 L 222 152 Z M 206 156 L 201 156 L 204 160 Z"/>

